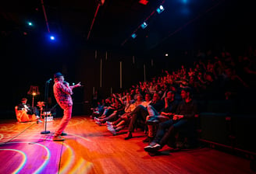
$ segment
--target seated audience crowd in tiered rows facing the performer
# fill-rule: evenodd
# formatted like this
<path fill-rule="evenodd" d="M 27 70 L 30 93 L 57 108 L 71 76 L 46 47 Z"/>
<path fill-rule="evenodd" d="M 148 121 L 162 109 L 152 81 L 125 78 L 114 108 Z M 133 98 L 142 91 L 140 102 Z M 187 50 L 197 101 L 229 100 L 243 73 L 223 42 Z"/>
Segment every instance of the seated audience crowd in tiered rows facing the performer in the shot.
<path fill-rule="evenodd" d="M 142 127 L 148 135 L 145 151 L 158 151 L 165 144 L 176 148 L 173 138 L 182 130 L 190 132 L 185 135 L 187 147 L 194 147 L 194 120 L 201 112 L 208 112 L 205 103 L 231 101 L 234 107 L 251 103 L 256 87 L 256 49 L 248 47 L 244 54 L 236 55 L 199 51 L 196 58 L 191 67 L 181 65 L 176 71 L 162 71 L 150 82 L 139 82 L 107 99 L 94 96 L 91 118 L 114 135 L 126 129 L 125 140 Z"/>

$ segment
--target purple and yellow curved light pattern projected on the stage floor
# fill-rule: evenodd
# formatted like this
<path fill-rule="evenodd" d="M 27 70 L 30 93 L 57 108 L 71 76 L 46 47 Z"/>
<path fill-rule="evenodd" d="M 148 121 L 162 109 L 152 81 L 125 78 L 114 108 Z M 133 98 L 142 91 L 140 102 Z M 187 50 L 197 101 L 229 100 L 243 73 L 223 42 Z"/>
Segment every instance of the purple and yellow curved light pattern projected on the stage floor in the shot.
<path fill-rule="evenodd" d="M 0 158 L 0 162 L 6 164 L 0 173 L 9 173 L 10 165 L 11 173 L 87 173 L 91 170 L 93 163 L 74 151 L 77 143 L 86 148 L 85 142 L 91 140 L 79 134 L 68 134 L 64 142 L 52 141 L 54 128 L 60 119 L 56 120 L 48 124 L 52 133 L 44 135 L 40 134 L 43 124 L 0 124 L 0 154 L 7 154 L 4 151 L 14 152 L 7 162 L 5 158 Z M 69 127 L 79 125 L 84 120 L 70 120 Z M 37 161 L 34 161 L 34 156 L 37 156 Z"/>

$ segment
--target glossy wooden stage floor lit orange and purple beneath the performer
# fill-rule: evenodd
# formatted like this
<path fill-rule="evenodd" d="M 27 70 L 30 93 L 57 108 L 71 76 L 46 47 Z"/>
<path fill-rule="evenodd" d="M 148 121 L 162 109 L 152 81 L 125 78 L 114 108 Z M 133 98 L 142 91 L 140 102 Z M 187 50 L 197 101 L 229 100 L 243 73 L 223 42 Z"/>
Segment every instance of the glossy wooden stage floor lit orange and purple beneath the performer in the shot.
<path fill-rule="evenodd" d="M 254 173 L 246 158 L 211 148 L 150 156 L 144 151 L 142 131 L 125 141 L 112 136 L 106 126 L 89 117 L 73 117 L 66 127 L 66 140 L 52 141 L 60 118 L 44 124 L 0 120 L 0 173 Z M 121 132 L 122 133 L 122 132 Z"/>

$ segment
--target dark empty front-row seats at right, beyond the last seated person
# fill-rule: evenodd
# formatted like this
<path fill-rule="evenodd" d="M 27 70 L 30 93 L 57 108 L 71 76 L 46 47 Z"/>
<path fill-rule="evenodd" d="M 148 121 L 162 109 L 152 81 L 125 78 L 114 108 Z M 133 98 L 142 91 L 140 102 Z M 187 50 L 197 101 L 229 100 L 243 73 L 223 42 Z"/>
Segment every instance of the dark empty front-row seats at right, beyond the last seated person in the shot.
<path fill-rule="evenodd" d="M 197 119 L 201 141 L 256 156 L 256 115 L 251 112 L 251 103 L 224 100 L 208 101 L 202 105 L 204 110 Z"/>

